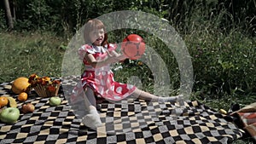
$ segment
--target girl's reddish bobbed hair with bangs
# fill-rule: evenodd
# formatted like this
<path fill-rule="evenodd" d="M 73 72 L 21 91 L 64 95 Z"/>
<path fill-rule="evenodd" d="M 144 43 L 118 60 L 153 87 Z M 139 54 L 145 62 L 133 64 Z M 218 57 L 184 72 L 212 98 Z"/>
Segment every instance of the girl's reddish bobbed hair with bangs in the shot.
<path fill-rule="evenodd" d="M 108 40 L 108 34 L 106 33 L 106 28 L 104 26 L 104 24 L 102 23 L 101 20 L 97 20 L 97 19 L 92 19 L 92 20 L 88 20 L 88 22 L 85 24 L 84 26 L 84 42 L 85 44 L 91 44 L 93 42 L 90 42 L 90 37 L 89 37 L 89 33 L 96 30 L 96 29 L 102 29 L 104 30 L 104 39 L 102 42 L 102 45 L 107 44 L 107 40 Z"/>

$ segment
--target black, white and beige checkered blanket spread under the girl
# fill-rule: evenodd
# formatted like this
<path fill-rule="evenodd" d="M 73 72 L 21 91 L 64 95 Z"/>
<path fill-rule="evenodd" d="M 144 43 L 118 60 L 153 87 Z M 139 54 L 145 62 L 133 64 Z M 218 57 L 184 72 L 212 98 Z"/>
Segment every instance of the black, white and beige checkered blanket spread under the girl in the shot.
<path fill-rule="evenodd" d="M 141 100 L 102 101 L 98 107 L 103 125 L 91 130 L 76 117 L 66 99 L 65 89 L 73 89 L 75 84 L 73 78 L 62 79 L 62 103 L 58 107 L 49 106 L 49 98 L 32 91 L 26 102 L 32 102 L 35 111 L 21 113 L 15 124 L 0 123 L 0 143 L 231 143 L 244 133 L 198 101 L 186 101 L 183 106 Z M 9 87 L 10 83 L 1 84 L 0 95 L 16 98 Z M 23 103 L 18 102 L 18 108 Z"/>

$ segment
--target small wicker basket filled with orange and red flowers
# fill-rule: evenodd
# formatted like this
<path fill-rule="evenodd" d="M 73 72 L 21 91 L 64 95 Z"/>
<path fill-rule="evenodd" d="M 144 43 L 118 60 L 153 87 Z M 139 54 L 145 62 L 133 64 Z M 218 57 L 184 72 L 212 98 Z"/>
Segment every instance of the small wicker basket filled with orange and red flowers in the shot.
<path fill-rule="evenodd" d="M 36 93 L 41 97 L 49 97 L 58 95 L 60 89 L 59 80 L 51 80 L 49 77 L 38 77 L 36 74 L 32 74 L 28 78 L 30 87 L 35 89 Z"/>

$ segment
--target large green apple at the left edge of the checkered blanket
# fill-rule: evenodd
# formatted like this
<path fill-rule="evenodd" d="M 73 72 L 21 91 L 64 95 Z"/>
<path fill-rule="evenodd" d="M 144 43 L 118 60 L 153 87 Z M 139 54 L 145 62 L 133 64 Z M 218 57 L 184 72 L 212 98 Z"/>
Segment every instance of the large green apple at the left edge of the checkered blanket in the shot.
<path fill-rule="evenodd" d="M 16 107 L 7 107 L 0 113 L 0 120 L 3 123 L 15 123 L 20 118 L 20 110 Z"/>

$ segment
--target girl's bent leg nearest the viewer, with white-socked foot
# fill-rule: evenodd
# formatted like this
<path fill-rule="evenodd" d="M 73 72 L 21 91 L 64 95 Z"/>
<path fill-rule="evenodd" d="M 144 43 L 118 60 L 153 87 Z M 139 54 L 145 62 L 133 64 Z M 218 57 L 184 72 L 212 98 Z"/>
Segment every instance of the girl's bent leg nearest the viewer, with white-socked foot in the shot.
<path fill-rule="evenodd" d="M 84 116 L 82 123 L 92 129 L 96 129 L 96 127 L 102 126 L 102 121 L 99 113 L 96 110 L 96 98 L 94 91 L 89 87 L 86 87 L 84 89 L 84 94 L 84 104 L 88 114 Z"/>

